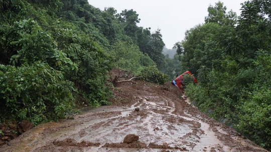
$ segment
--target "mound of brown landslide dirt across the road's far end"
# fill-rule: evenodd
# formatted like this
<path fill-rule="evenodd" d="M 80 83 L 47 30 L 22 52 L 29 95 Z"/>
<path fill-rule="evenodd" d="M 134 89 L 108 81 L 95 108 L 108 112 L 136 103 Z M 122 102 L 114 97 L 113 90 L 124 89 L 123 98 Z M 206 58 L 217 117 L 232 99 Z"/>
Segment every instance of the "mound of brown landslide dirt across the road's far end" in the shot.
<path fill-rule="evenodd" d="M 128 80 L 131 77 L 135 77 L 129 71 L 123 71 L 118 68 L 114 68 L 110 71 L 111 80 L 113 77 L 117 77 L 118 81 Z M 174 86 L 171 82 L 166 82 L 164 85 L 146 82 L 144 80 L 133 79 L 131 81 L 115 82 L 113 88 L 113 95 L 111 102 L 113 105 L 126 106 L 131 105 L 138 98 L 134 94 L 141 94 L 142 91 L 157 93 L 161 96 L 170 96 L 176 99 L 183 99 L 183 93 L 180 89 Z"/>

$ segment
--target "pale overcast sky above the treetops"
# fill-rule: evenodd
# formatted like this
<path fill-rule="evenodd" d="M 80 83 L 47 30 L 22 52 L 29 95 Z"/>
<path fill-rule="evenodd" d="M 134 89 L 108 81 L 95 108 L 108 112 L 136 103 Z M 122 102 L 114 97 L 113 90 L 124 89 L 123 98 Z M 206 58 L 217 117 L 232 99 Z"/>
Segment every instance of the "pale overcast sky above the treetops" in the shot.
<path fill-rule="evenodd" d="M 208 15 L 208 6 L 219 0 L 88 0 L 89 4 L 104 10 L 114 7 L 118 13 L 124 9 L 133 9 L 141 18 L 138 26 L 151 27 L 151 31 L 161 29 L 167 48 L 182 41 L 185 31 L 197 24 L 204 23 Z M 240 15 L 242 2 L 246 0 L 220 0 L 227 7 Z"/>

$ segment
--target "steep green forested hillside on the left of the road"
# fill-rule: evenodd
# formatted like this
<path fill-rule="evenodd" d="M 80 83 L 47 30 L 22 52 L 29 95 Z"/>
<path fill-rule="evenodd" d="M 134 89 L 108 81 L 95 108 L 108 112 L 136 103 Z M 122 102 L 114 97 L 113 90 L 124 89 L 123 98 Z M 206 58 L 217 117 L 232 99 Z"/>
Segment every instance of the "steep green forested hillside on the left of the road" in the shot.
<path fill-rule="evenodd" d="M 0 0 L 0 124 L 28 119 L 36 125 L 80 104 L 110 104 L 114 67 L 169 80 L 161 72 L 160 29 L 139 27 L 138 16 L 87 0 Z"/>

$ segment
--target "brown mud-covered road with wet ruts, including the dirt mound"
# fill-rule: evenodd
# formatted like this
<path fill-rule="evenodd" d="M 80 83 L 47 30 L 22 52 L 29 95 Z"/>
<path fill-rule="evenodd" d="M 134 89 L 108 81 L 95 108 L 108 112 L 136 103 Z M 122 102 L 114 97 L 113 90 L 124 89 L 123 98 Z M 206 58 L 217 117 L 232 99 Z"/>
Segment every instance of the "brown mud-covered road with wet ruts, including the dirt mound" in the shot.
<path fill-rule="evenodd" d="M 133 82 L 114 88 L 112 105 L 40 124 L 0 151 L 267 151 L 200 112 L 171 83 Z"/>

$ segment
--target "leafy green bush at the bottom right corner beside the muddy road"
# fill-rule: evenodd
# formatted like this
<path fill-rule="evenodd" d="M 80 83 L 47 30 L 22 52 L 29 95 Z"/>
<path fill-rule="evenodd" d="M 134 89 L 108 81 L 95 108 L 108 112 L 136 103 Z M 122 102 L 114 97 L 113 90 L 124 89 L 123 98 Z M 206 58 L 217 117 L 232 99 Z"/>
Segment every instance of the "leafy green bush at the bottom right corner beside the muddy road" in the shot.
<path fill-rule="evenodd" d="M 270 87 L 264 84 L 260 88 L 254 88 L 252 92 L 248 92 L 247 97 L 238 108 L 240 121 L 235 127 L 257 144 L 269 148 L 271 146 Z"/>

